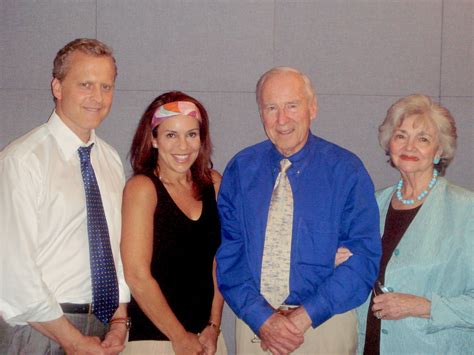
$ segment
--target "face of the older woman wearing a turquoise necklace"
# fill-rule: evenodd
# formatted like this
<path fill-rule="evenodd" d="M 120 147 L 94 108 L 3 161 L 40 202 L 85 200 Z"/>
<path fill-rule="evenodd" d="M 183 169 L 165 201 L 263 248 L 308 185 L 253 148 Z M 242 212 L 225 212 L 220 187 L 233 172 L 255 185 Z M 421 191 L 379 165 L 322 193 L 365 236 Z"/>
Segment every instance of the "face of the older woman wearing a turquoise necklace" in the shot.
<path fill-rule="evenodd" d="M 433 158 L 440 153 L 438 130 L 429 118 L 418 115 L 406 117 L 390 139 L 392 162 L 406 174 L 431 174 Z"/>

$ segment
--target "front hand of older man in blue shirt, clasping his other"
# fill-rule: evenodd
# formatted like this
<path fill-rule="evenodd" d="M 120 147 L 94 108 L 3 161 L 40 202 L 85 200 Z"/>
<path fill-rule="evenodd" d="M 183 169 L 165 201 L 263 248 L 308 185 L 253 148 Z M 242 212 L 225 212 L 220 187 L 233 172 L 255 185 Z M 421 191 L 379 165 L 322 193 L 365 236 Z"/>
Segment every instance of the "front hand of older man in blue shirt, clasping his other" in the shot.
<path fill-rule="evenodd" d="M 284 315 L 275 313 L 260 328 L 263 350 L 274 355 L 289 354 L 303 344 L 303 333 Z"/>

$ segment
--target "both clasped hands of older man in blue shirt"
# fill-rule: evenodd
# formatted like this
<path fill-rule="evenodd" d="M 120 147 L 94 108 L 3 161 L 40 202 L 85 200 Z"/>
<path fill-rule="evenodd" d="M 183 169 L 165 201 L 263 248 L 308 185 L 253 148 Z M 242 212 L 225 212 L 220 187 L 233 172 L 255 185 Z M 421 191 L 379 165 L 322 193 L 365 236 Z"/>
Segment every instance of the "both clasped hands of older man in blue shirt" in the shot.
<path fill-rule="evenodd" d="M 304 307 L 278 311 L 260 327 L 260 346 L 274 355 L 289 354 L 304 342 L 304 333 L 311 326 L 311 318 Z"/>

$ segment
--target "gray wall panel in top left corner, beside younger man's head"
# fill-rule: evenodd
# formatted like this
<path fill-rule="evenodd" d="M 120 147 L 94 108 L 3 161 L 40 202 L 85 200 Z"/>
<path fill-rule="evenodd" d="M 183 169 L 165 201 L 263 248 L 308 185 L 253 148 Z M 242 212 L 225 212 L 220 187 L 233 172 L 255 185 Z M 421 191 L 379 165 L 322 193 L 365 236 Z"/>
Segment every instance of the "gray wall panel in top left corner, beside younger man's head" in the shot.
<path fill-rule="evenodd" d="M 96 37 L 94 0 L 2 0 L 2 7 L 0 88 L 48 89 L 57 51 Z"/>

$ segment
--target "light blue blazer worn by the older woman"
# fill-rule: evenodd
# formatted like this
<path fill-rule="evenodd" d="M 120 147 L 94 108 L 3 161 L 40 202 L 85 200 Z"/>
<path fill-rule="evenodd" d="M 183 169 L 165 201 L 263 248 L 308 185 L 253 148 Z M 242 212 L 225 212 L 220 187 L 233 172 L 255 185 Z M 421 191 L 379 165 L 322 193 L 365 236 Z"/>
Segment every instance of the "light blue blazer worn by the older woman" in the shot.
<path fill-rule="evenodd" d="M 395 189 L 376 193 L 382 234 Z M 382 355 L 474 354 L 474 192 L 438 179 L 387 265 L 385 286 L 431 300 L 431 317 L 382 320 Z M 359 353 L 369 301 L 357 309 Z"/>

